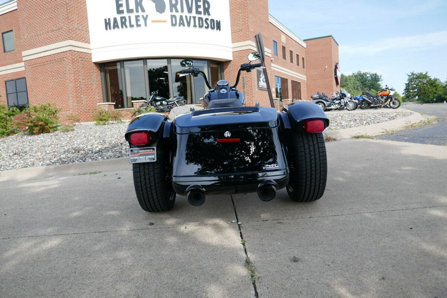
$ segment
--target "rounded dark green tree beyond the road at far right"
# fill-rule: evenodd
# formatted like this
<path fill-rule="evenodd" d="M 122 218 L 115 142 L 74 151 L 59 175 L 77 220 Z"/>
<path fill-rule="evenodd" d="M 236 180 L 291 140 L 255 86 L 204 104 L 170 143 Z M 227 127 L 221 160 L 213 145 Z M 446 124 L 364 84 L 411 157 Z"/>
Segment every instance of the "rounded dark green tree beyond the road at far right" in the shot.
<path fill-rule="evenodd" d="M 419 100 L 421 104 L 435 99 L 443 92 L 443 83 L 439 78 L 432 78 L 428 73 L 414 73 L 408 75 L 405 83 L 405 99 Z"/>

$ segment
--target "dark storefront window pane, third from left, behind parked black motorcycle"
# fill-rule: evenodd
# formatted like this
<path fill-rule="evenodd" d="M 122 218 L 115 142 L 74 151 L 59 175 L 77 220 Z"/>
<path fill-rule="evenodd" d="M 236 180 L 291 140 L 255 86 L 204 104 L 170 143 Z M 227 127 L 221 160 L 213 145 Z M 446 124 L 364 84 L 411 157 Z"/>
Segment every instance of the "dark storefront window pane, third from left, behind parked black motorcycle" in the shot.
<path fill-rule="evenodd" d="M 149 91 L 158 91 L 158 96 L 170 98 L 167 59 L 148 60 Z"/>

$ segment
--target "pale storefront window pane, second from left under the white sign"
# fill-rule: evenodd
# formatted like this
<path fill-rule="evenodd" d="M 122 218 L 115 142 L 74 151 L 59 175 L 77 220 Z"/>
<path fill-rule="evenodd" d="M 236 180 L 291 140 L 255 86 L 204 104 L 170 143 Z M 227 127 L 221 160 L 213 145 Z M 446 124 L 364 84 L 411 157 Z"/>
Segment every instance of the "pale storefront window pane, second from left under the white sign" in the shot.
<path fill-rule="evenodd" d="M 146 82 L 143 60 L 125 61 L 127 106 L 132 107 L 132 100 L 146 100 Z"/>

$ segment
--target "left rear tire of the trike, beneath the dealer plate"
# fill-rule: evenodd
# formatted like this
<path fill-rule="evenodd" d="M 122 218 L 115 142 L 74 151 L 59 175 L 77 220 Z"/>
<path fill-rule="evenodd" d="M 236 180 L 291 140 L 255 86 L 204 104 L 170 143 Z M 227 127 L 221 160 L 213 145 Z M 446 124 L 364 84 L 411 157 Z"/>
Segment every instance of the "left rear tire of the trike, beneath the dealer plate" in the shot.
<path fill-rule="evenodd" d="M 175 203 L 175 192 L 169 179 L 168 156 L 158 142 L 154 162 L 134 163 L 134 186 L 138 202 L 144 211 L 163 212 L 170 210 Z"/>

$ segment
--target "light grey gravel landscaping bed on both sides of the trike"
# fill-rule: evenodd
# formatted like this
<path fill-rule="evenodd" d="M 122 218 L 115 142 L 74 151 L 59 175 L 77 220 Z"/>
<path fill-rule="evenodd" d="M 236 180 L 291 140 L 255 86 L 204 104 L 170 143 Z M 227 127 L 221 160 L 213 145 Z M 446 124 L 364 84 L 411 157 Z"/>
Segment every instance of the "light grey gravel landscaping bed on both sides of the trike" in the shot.
<path fill-rule="evenodd" d="M 410 114 L 404 111 L 327 113 L 331 121 L 329 130 L 371 125 Z M 37 136 L 21 133 L 0 138 L 0 171 L 127 157 L 126 128 L 126 123 L 105 126 L 82 123 L 72 132 Z"/>

